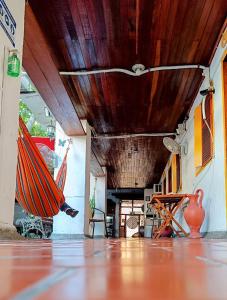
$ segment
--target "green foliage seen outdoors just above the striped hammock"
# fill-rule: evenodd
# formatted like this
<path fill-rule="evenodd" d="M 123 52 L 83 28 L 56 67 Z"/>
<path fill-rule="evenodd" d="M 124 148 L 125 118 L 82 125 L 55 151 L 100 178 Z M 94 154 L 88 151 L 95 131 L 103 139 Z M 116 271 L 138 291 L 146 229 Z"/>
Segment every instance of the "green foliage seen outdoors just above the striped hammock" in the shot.
<path fill-rule="evenodd" d="M 29 109 L 27 104 L 22 101 L 19 102 L 19 115 L 25 124 L 27 124 L 29 119 L 32 117 L 32 111 Z M 33 123 L 30 134 L 32 136 L 48 136 L 47 131 L 43 129 L 42 125 L 37 121 Z"/>

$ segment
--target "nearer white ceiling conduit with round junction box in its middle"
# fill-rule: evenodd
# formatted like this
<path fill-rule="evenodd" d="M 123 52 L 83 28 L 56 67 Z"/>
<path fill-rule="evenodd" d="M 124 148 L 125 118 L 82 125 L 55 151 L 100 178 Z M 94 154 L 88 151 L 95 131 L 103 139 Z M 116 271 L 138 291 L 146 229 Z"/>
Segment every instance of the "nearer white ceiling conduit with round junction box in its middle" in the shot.
<path fill-rule="evenodd" d="M 83 75 L 92 75 L 92 74 L 102 74 L 102 73 L 124 73 L 130 76 L 141 76 L 149 72 L 155 71 L 165 71 L 165 70 L 183 70 L 183 69 L 207 69 L 205 66 L 202 65 L 182 65 L 182 66 L 160 66 L 160 67 L 153 67 L 148 68 L 146 70 L 138 69 L 135 72 L 130 71 L 127 69 L 121 68 L 111 68 L 111 69 L 100 69 L 100 70 L 81 70 L 81 71 L 60 71 L 60 75 L 76 75 L 76 76 L 83 76 Z"/>

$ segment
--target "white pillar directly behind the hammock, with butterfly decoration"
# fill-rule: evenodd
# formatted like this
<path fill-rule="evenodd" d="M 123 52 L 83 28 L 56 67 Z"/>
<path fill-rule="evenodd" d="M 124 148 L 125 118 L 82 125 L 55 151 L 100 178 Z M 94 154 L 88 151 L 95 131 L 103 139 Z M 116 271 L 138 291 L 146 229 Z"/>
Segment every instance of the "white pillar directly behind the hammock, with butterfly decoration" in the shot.
<path fill-rule="evenodd" d="M 84 235 L 88 228 L 88 208 L 90 195 L 90 155 L 91 133 L 87 122 L 82 122 L 86 136 L 71 137 L 72 144 L 67 159 L 67 176 L 64 189 L 66 202 L 79 211 L 75 218 L 63 212 L 54 217 L 53 234 Z M 56 127 L 55 151 L 62 158 L 66 146 L 59 146 L 59 139 L 69 139 L 59 124 Z M 57 174 L 55 172 L 55 175 Z"/>

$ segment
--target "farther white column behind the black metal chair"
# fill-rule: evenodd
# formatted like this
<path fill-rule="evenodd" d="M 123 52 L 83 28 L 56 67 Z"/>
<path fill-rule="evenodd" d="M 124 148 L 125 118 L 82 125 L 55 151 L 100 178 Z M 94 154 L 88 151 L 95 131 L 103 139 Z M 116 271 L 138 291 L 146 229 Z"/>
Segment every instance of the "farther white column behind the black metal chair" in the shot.
<path fill-rule="evenodd" d="M 103 212 L 107 211 L 107 175 L 106 168 L 103 168 L 104 176 L 96 177 L 96 192 L 95 192 L 95 207 L 102 210 Z M 95 177 L 91 175 L 91 197 L 93 195 L 93 189 L 95 185 Z M 102 218 L 102 215 L 99 212 L 96 212 L 97 218 Z M 95 224 L 95 236 L 103 236 L 105 233 L 104 223 Z M 91 228 L 90 228 L 91 231 Z M 90 232 L 91 234 L 91 232 Z"/>

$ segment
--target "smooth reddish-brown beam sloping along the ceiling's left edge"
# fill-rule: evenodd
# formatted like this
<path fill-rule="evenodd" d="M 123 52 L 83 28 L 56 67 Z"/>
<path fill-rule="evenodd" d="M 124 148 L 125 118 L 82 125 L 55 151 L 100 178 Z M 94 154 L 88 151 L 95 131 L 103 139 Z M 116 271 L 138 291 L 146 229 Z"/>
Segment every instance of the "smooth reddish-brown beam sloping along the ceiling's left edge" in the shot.
<path fill-rule="evenodd" d="M 25 11 L 23 67 L 64 132 L 84 135 L 75 108 L 59 75 L 54 54 L 29 4 Z"/>

